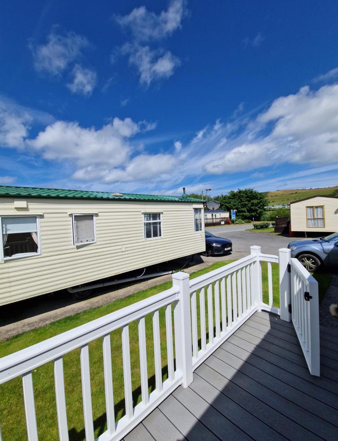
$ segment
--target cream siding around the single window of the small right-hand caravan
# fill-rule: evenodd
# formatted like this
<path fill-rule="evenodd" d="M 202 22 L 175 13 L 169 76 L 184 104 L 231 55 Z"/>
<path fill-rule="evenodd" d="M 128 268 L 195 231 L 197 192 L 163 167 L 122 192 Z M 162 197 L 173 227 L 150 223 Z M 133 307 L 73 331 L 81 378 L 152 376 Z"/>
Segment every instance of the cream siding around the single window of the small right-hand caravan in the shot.
<path fill-rule="evenodd" d="M 306 207 L 324 206 L 325 228 L 308 228 L 306 224 Z M 291 231 L 338 231 L 338 198 L 315 196 L 305 201 L 290 204 Z"/>

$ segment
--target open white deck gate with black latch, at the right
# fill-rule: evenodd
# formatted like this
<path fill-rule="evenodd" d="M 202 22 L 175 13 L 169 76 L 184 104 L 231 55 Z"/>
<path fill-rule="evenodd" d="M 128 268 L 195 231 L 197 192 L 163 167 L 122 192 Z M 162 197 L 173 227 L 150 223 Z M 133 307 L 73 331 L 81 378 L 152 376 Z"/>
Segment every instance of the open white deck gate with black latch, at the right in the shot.
<path fill-rule="evenodd" d="M 312 375 L 319 376 L 318 283 L 297 259 L 290 260 L 290 309 L 306 363 Z"/>

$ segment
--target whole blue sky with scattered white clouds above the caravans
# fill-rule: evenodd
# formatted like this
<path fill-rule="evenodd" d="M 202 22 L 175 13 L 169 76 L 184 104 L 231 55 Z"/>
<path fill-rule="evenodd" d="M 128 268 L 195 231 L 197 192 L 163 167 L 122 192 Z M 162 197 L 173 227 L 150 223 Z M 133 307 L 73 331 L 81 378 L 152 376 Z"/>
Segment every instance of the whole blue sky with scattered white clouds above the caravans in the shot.
<path fill-rule="evenodd" d="M 0 184 L 337 185 L 337 23 L 330 0 L 4 0 Z"/>

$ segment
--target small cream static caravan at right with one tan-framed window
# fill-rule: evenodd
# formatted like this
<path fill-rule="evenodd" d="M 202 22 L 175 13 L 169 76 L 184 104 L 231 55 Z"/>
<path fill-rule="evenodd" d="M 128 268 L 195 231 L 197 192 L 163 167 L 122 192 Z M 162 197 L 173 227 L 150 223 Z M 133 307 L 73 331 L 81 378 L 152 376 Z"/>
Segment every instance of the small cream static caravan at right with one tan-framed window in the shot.
<path fill-rule="evenodd" d="M 338 198 L 311 196 L 290 202 L 290 231 L 325 234 L 337 232 Z"/>

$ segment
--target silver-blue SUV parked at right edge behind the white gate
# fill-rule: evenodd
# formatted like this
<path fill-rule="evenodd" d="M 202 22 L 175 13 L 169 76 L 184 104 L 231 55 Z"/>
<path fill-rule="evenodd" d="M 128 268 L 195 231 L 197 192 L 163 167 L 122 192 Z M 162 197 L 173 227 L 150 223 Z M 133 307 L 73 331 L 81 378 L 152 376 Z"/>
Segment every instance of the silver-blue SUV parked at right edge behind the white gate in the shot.
<path fill-rule="evenodd" d="M 308 271 L 316 271 L 320 265 L 338 266 L 338 233 L 318 239 L 294 240 L 288 248 Z"/>

